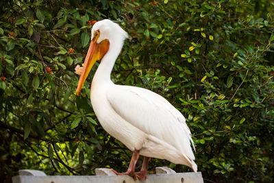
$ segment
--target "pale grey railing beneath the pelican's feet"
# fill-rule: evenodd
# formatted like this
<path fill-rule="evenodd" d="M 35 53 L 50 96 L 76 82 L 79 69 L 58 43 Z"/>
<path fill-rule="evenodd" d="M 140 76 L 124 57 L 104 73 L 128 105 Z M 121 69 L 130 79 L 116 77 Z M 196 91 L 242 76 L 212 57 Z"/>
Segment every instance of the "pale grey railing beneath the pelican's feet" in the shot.
<path fill-rule="evenodd" d="M 110 169 L 95 169 L 96 175 L 49 175 L 37 170 L 20 170 L 12 178 L 13 183 L 203 183 L 201 172 L 176 173 L 167 167 L 157 167 L 156 174 L 149 174 L 147 180 L 134 180 L 127 175 L 115 175 Z"/>

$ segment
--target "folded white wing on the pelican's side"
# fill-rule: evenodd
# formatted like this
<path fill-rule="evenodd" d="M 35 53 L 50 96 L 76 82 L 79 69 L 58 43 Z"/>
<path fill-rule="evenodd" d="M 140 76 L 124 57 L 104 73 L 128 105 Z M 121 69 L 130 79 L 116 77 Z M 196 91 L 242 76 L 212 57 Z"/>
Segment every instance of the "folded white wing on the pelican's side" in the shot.
<path fill-rule="evenodd" d="M 150 90 L 134 86 L 112 85 L 110 91 L 108 101 L 125 121 L 169 143 L 187 156 L 190 162 L 195 160 L 186 119 L 169 101 Z"/>

